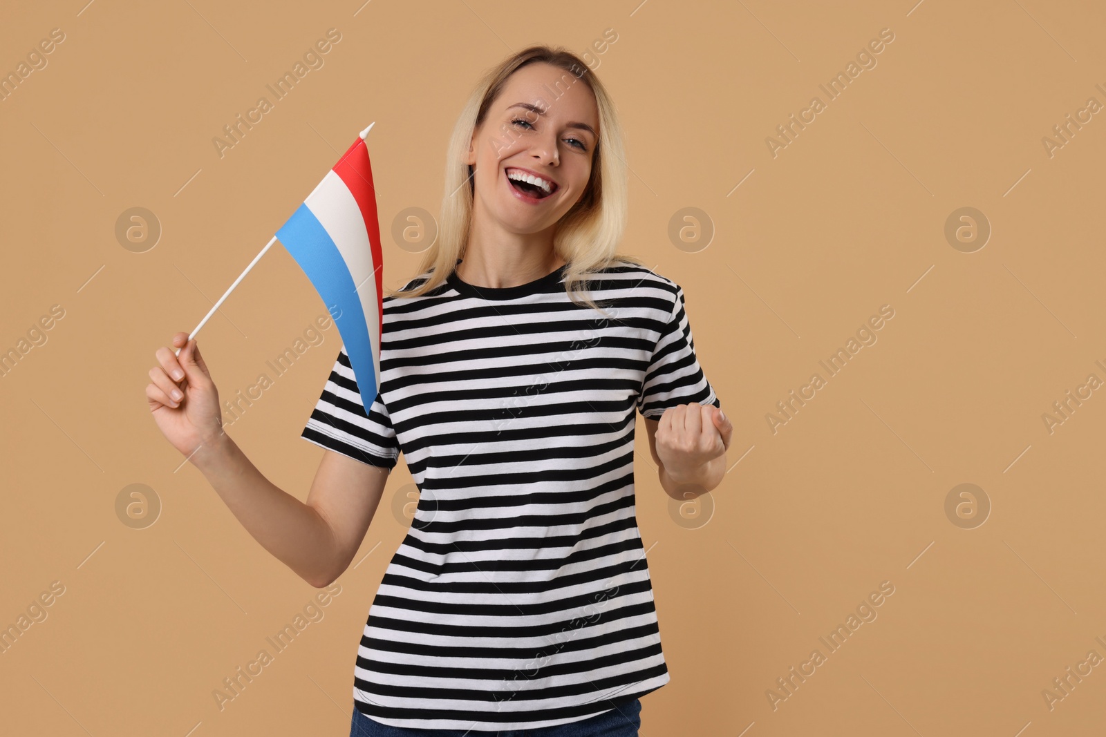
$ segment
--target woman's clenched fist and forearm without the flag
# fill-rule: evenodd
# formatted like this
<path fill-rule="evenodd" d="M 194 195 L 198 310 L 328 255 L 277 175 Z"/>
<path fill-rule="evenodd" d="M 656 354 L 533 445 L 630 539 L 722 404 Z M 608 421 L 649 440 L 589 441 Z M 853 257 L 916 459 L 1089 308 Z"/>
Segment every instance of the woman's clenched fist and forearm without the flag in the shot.
<path fill-rule="evenodd" d="M 726 451 L 733 425 L 712 404 L 669 407 L 659 420 L 645 420 L 649 452 L 665 493 L 680 502 L 711 491 L 726 475 Z"/>

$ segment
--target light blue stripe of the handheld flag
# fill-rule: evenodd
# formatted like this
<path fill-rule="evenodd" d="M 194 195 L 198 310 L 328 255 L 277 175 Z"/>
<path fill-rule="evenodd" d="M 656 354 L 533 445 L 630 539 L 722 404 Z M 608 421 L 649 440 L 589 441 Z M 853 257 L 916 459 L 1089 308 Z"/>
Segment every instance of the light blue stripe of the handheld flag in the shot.
<path fill-rule="evenodd" d="M 276 239 L 300 264 L 332 316 L 334 307 L 338 308 L 334 324 L 338 326 L 338 333 L 345 343 L 365 414 L 368 414 L 376 399 L 377 382 L 373 368 L 373 347 L 369 345 L 368 325 L 361 297 L 345 260 L 306 204 L 301 204 L 276 231 Z M 379 319 L 378 315 L 373 315 L 373 319 Z"/>

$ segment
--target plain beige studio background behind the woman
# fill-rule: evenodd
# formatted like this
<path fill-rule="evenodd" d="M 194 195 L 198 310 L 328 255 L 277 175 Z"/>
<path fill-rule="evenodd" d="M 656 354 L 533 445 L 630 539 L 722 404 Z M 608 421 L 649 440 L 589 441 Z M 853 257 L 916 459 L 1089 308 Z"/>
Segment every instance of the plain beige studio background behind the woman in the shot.
<path fill-rule="evenodd" d="M 589 51 L 620 107 L 625 250 L 685 288 L 735 425 L 706 524 L 706 499 L 670 510 L 639 427 L 638 515 L 672 676 L 643 699 L 641 734 L 1095 734 L 1106 666 L 1052 709 L 1042 692 L 1088 651 L 1106 657 L 1106 391 L 1052 433 L 1042 414 L 1088 375 L 1106 379 L 1106 120 L 1052 156 L 1042 139 L 1088 98 L 1106 103 L 1106 11 L 830 4 L 6 9 L 0 71 L 51 29 L 65 40 L 0 103 L 0 350 L 53 305 L 64 317 L 0 379 L 0 624 L 53 581 L 64 593 L 0 655 L 3 731 L 346 734 L 357 639 L 405 534 L 392 504 L 409 491 L 406 467 L 325 617 L 220 709 L 222 680 L 319 591 L 181 466 L 149 418 L 147 371 L 372 120 L 385 282 L 406 281 L 418 256 L 392 222 L 437 212 L 469 88 L 546 42 Z M 220 158 L 211 139 L 330 28 L 342 40 L 325 65 Z M 591 44 L 607 29 L 617 40 L 599 54 Z M 828 102 L 818 85 L 881 29 L 894 41 L 876 66 Z M 825 109 L 773 157 L 765 138 L 815 95 Z M 144 253 L 115 238 L 133 207 L 163 228 Z M 669 240 L 686 207 L 712 223 L 707 248 Z M 945 236 L 963 207 L 992 229 L 973 253 Z M 878 341 L 773 433 L 775 403 L 825 378 L 818 361 L 885 304 L 895 316 Z M 221 397 L 272 378 L 265 361 L 324 314 L 273 248 L 199 334 Z M 321 335 L 229 430 L 299 498 L 323 453 L 299 433 L 340 347 L 333 328 Z M 992 505 L 973 529 L 946 515 L 961 483 Z M 144 529 L 116 512 L 131 484 L 161 505 Z M 818 638 L 883 581 L 895 593 L 878 618 L 830 653 Z M 765 692 L 815 649 L 825 662 L 773 709 Z"/>

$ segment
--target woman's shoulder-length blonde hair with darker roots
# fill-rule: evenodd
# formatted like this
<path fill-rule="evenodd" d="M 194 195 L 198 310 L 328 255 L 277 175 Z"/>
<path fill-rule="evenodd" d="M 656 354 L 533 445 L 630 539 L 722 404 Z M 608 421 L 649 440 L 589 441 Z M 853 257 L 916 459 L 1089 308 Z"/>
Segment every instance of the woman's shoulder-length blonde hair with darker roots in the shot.
<path fill-rule="evenodd" d="M 635 256 L 617 253 L 626 230 L 628 196 L 626 152 L 614 101 L 595 73 L 578 56 L 562 48 L 534 45 L 507 57 L 486 72 L 469 95 L 453 125 L 446 151 L 446 186 L 438 239 L 422 254 L 418 267 L 419 275 L 429 272 L 429 276 L 407 291 L 388 289 L 389 296 L 415 297 L 432 291 L 456 270 L 457 260 L 463 257 L 476 196 L 471 167 L 465 162 L 472 135 L 484 122 L 508 78 L 533 63 L 550 64 L 572 74 L 575 80 L 568 81 L 570 85 L 577 80 L 584 82 L 595 96 L 599 116 L 591 180 L 580 200 L 557 221 L 553 235 L 553 251 L 566 262 L 564 285 L 570 301 L 576 303 L 574 296 L 578 296 L 580 302 L 598 309 L 591 295 L 581 292 L 586 289 L 585 284 L 595 272 L 617 262 L 645 266 Z M 565 80 L 565 76 L 562 75 L 561 78 Z M 561 86 L 561 81 L 554 85 L 557 91 Z"/>

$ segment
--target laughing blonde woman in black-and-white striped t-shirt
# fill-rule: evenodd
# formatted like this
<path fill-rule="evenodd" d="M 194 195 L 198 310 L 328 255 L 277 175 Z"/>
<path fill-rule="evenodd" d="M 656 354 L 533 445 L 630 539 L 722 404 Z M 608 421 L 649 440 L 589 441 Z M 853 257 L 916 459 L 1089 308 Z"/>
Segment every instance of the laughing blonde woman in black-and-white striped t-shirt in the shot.
<path fill-rule="evenodd" d="M 732 425 L 682 289 L 616 254 L 623 159 L 575 55 L 534 46 L 486 75 L 450 140 L 440 236 L 384 299 L 379 396 L 366 412 L 343 346 L 303 429 L 327 451 L 306 503 L 222 432 L 195 340 L 156 354 L 158 427 L 313 586 L 349 565 L 404 453 L 419 503 L 361 638 L 351 735 L 637 735 L 639 697 L 669 680 L 635 413 L 681 499 L 721 481 Z"/>

